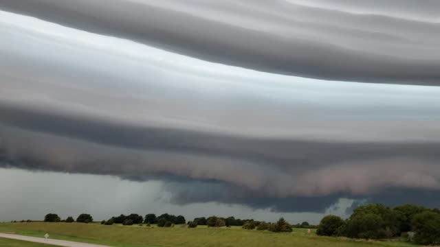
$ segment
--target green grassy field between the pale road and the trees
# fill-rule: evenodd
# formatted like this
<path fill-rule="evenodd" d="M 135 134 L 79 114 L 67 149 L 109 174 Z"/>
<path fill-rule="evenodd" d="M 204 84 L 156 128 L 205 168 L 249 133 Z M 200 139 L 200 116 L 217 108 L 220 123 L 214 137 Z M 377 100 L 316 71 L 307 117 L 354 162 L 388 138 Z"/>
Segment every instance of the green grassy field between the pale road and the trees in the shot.
<path fill-rule="evenodd" d="M 412 246 L 404 242 L 354 241 L 351 239 L 320 237 L 307 234 L 307 229 L 294 229 L 293 233 L 271 233 L 268 231 L 249 231 L 233 228 L 158 228 L 148 226 L 104 226 L 100 224 L 78 223 L 1 223 L 0 232 L 17 233 L 32 237 L 43 237 L 49 233 L 51 238 L 117 247 L 344 247 L 344 246 Z M 0 242 L 1 243 L 1 242 Z M 3 246 L 0 244 L 0 246 Z M 25 245 L 23 245 L 25 246 Z"/>

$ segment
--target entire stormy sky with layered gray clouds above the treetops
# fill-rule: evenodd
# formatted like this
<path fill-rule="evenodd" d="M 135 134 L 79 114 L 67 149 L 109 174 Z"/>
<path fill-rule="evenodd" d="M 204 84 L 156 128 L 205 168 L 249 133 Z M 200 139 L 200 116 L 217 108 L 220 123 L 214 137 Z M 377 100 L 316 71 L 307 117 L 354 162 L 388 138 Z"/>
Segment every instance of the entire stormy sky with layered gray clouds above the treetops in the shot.
<path fill-rule="evenodd" d="M 0 221 L 440 207 L 437 10 L 0 0 Z"/>

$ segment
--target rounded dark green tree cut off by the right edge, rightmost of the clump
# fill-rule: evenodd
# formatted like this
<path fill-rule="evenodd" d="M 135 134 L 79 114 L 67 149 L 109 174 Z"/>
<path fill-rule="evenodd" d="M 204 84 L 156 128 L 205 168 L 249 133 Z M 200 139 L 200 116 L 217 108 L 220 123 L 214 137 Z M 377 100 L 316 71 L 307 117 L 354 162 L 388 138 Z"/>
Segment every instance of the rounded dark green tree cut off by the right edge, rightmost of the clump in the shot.
<path fill-rule="evenodd" d="M 434 211 L 423 211 L 412 218 L 414 242 L 417 244 L 440 244 L 440 214 Z"/>

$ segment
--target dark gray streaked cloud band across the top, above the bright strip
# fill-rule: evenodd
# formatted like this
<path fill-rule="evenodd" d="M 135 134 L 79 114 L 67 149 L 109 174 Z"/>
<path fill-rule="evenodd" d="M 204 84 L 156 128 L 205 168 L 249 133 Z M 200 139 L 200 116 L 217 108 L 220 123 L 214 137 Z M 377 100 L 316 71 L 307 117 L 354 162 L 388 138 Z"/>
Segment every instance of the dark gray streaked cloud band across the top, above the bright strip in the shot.
<path fill-rule="evenodd" d="M 240 67 L 438 85 L 435 1 L 0 1 L 0 8 Z M 122 11 L 124 10 L 124 11 Z"/>

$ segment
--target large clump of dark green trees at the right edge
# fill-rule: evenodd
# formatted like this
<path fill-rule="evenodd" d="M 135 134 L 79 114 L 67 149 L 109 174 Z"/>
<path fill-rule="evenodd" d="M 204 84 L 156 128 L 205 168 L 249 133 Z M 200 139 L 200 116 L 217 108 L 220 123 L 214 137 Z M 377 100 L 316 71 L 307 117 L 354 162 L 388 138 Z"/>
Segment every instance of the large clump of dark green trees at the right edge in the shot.
<path fill-rule="evenodd" d="M 316 234 L 356 239 L 403 237 L 415 244 L 440 244 L 440 210 L 415 204 L 394 208 L 366 204 L 356 208 L 347 220 L 326 215 Z"/>

